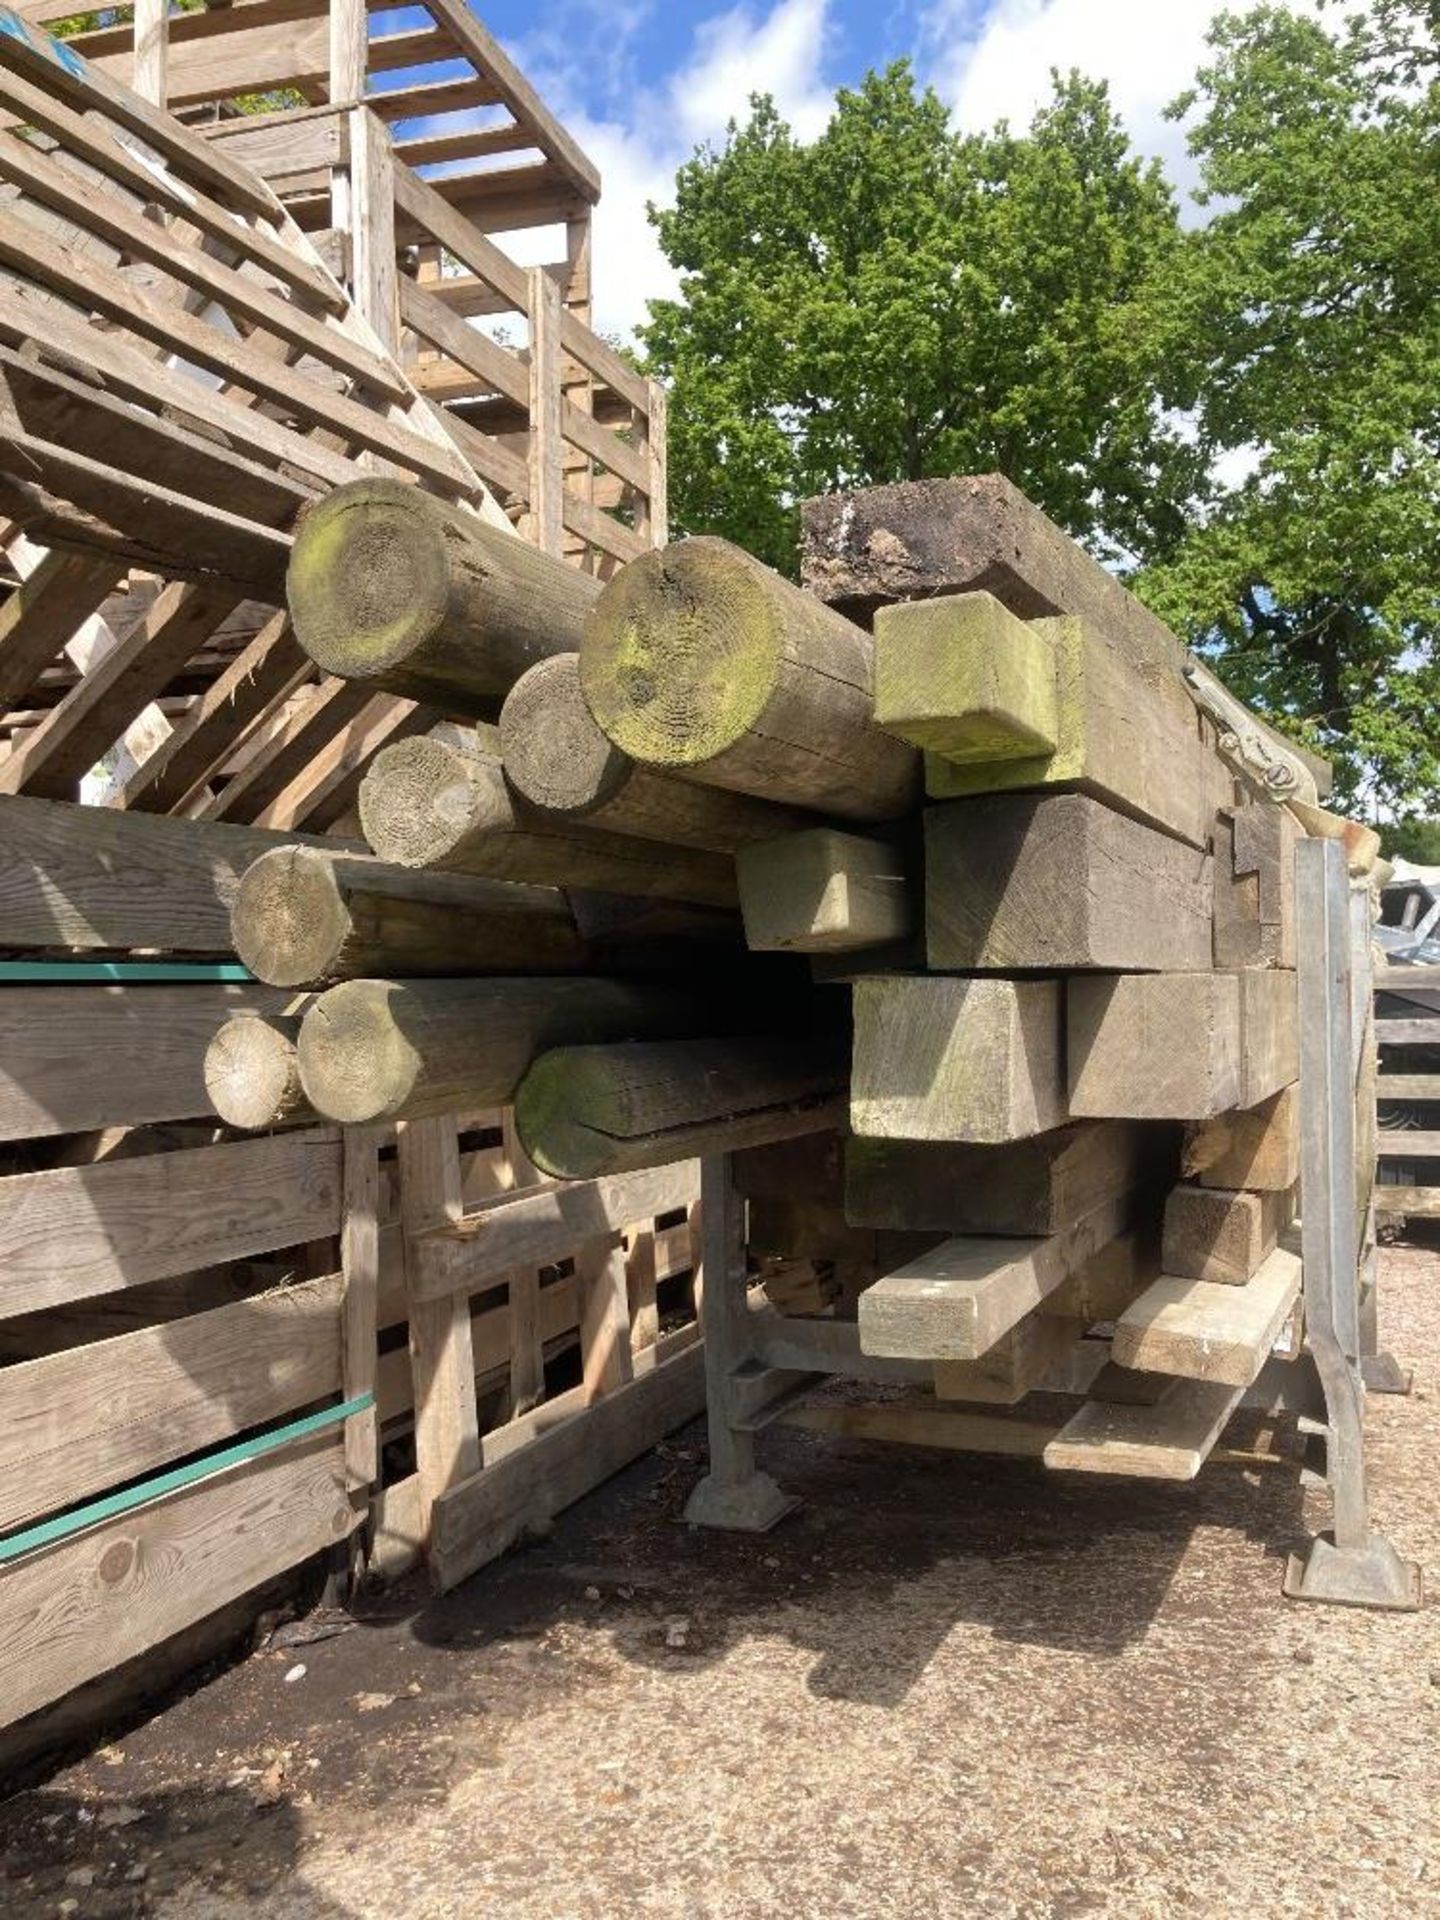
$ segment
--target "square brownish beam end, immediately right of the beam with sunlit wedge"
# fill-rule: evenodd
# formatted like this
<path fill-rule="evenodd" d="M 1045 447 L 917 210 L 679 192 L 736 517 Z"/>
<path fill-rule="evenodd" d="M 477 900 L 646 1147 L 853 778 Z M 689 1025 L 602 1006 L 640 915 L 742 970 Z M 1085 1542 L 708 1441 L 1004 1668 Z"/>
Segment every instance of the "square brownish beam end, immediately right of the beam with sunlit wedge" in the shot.
<path fill-rule="evenodd" d="M 1240 1102 L 1235 973 L 1098 973 L 1066 983 L 1069 1112 L 1208 1119 Z"/>

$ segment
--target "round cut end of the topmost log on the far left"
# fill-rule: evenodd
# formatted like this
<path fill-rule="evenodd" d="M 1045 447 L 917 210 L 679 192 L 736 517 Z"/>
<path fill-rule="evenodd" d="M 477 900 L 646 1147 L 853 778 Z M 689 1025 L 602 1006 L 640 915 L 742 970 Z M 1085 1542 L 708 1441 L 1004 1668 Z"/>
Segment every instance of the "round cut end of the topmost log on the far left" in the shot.
<path fill-rule="evenodd" d="M 434 501 L 399 480 L 336 488 L 300 522 L 286 597 L 300 645 L 326 674 L 392 672 L 430 639 L 449 601 Z"/>

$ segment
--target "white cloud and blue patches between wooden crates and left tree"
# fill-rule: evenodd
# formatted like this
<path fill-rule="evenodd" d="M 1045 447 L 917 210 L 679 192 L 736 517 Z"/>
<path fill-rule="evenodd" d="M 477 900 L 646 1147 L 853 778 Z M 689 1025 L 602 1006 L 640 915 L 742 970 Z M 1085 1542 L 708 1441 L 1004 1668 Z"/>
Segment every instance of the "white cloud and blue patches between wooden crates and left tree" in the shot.
<path fill-rule="evenodd" d="M 626 117 L 595 117 L 574 98 L 564 67 L 520 48 L 547 104 L 601 171 L 595 209 L 595 324 L 628 336 L 645 301 L 674 292 L 676 275 L 645 219 L 649 200 L 668 202 L 676 169 L 701 140 L 720 140 L 745 119 L 755 92 L 774 94 L 795 132 L 812 140 L 826 125 L 833 86 L 824 79 L 831 0 L 739 0 L 697 23 L 689 58 L 657 88 L 630 88 Z"/>

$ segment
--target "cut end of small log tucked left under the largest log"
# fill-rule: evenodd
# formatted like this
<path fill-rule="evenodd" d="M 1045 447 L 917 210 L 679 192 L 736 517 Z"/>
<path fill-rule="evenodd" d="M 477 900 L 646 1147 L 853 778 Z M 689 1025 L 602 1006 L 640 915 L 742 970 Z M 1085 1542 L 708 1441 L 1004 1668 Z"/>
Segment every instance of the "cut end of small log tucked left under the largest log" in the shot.
<path fill-rule="evenodd" d="M 612 801 L 636 764 L 586 707 L 574 653 L 540 660 L 515 682 L 499 714 L 499 751 L 515 791 L 557 814 L 589 814 Z"/>

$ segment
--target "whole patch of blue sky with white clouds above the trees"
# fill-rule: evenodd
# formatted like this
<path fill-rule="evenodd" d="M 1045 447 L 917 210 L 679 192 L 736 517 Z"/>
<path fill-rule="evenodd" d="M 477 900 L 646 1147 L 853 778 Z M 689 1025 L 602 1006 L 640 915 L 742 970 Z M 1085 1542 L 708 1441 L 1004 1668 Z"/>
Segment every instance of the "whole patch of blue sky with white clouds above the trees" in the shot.
<path fill-rule="evenodd" d="M 1309 8 L 1313 0 L 1288 0 Z M 1135 142 L 1188 182 L 1164 106 L 1194 75 L 1217 0 L 478 0 L 547 104 L 599 163 L 597 324 L 626 334 L 672 286 L 645 200 L 699 140 L 772 92 L 801 136 L 835 86 L 908 54 L 956 123 L 1029 121 L 1050 67 L 1110 81 Z M 553 253 L 540 250 L 538 257 Z"/>

